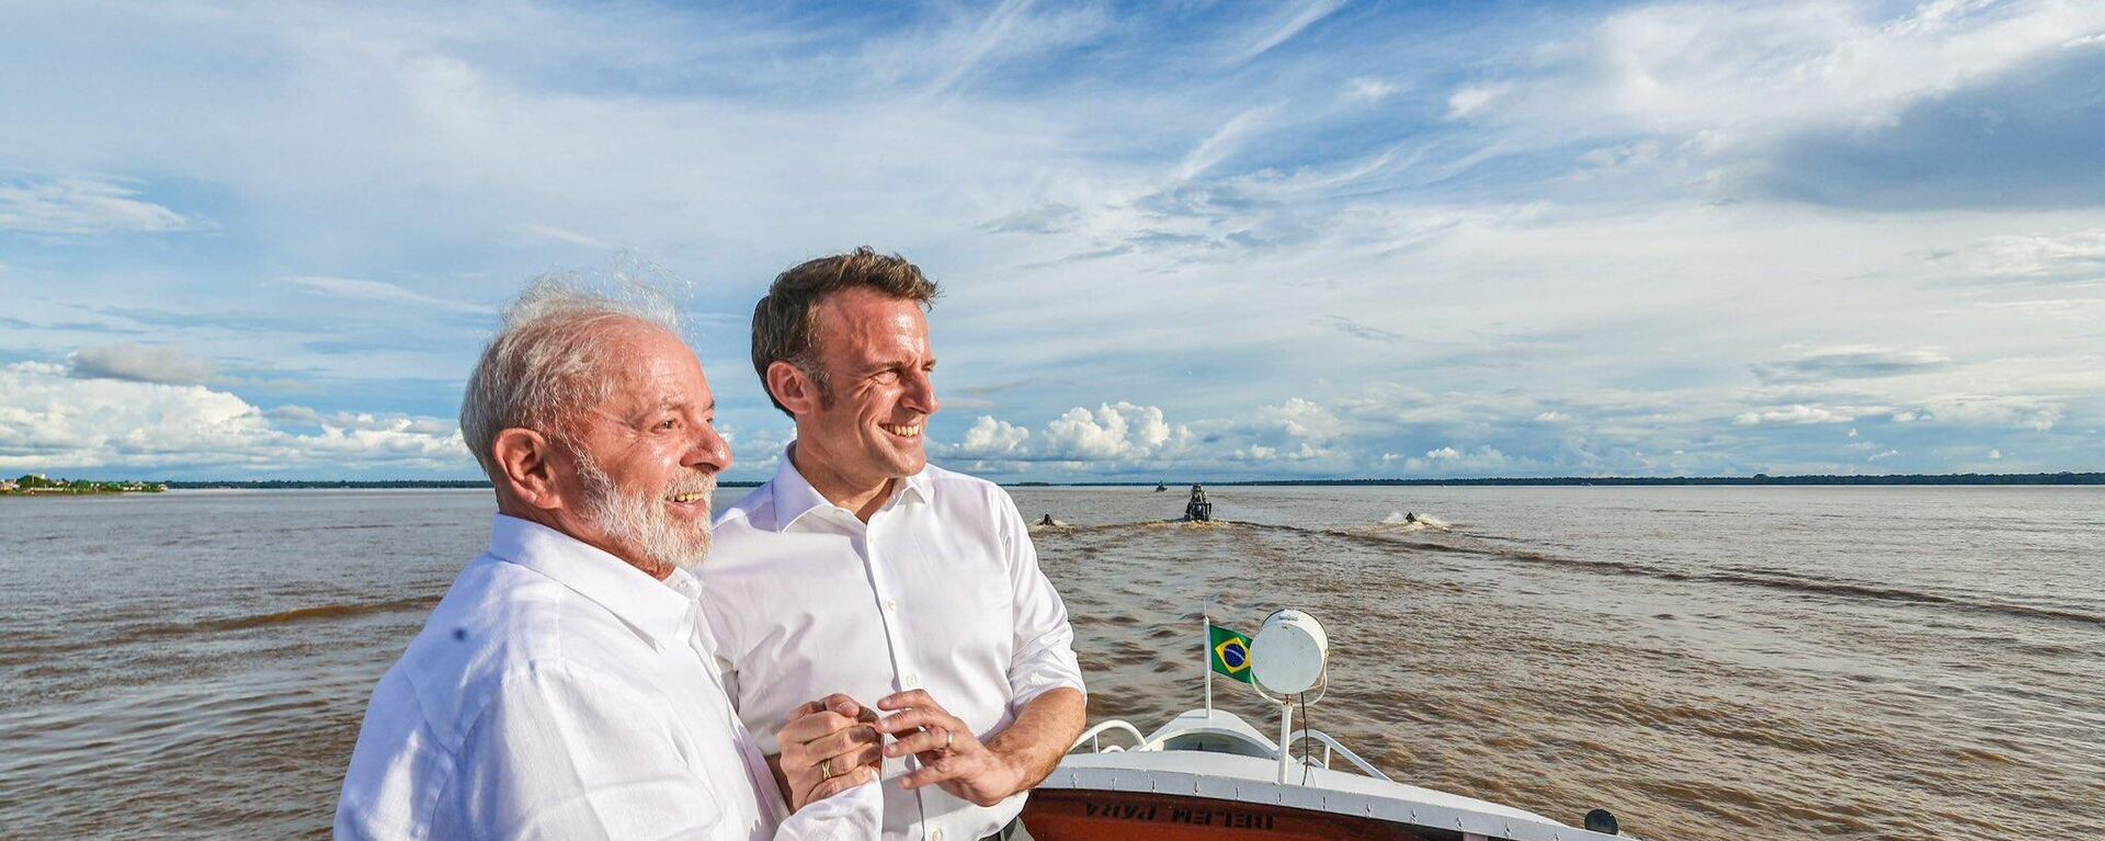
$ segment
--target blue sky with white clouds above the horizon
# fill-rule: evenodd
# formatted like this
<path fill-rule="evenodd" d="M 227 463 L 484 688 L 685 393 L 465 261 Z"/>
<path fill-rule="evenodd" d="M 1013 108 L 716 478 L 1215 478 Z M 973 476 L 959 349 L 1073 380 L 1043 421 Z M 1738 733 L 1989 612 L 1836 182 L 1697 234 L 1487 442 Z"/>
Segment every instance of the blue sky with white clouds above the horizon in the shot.
<path fill-rule="evenodd" d="M 543 272 L 922 266 L 998 481 L 2105 470 L 2105 4 L 0 0 L 0 472 L 474 478 Z"/>

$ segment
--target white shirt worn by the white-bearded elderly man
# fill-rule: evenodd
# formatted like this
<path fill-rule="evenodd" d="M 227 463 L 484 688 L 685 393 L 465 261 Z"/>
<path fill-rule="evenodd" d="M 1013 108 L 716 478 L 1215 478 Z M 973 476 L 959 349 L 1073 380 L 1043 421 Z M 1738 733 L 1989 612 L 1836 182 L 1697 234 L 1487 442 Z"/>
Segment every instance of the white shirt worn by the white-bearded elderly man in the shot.
<path fill-rule="evenodd" d="M 697 592 L 499 514 L 373 691 L 337 837 L 874 839 L 876 784 L 785 820 Z"/>

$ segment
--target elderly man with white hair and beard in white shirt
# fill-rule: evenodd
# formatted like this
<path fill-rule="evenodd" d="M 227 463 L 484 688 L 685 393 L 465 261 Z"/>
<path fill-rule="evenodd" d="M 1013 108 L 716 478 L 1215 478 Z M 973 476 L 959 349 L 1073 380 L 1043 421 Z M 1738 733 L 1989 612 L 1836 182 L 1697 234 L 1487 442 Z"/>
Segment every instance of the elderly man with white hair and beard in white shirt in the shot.
<path fill-rule="evenodd" d="M 724 696 L 690 571 L 730 466 L 714 419 L 671 308 L 545 278 L 507 310 L 461 403 L 490 548 L 373 691 L 337 837 L 878 837 L 859 708 L 781 727 L 823 774 L 779 795 Z"/>

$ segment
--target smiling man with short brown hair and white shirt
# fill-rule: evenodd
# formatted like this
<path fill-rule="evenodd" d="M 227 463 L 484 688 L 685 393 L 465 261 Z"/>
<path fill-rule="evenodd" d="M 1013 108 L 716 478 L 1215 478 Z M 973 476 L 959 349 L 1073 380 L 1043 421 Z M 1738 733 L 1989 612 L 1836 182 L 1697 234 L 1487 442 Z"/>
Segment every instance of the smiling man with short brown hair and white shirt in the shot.
<path fill-rule="evenodd" d="M 888 712 L 886 839 L 1019 839 L 1023 793 L 1082 731 L 1082 670 L 1008 493 L 928 464 L 935 295 L 869 249 L 775 278 L 754 369 L 798 436 L 718 519 L 703 601 L 722 607 L 718 664 L 756 731 L 819 693 Z M 789 778 L 813 763 L 762 748 Z"/>

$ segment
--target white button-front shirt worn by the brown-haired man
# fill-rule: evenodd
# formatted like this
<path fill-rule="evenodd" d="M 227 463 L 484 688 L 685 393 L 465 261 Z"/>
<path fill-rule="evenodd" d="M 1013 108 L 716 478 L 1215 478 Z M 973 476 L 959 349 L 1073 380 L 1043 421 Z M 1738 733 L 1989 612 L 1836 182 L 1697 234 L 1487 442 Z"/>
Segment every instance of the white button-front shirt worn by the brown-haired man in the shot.
<path fill-rule="evenodd" d="M 794 447 L 794 445 L 791 445 Z M 981 738 L 1048 689 L 1082 689 L 1067 605 L 1038 569 L 1029 527 L 998 485 L 928 466 L 861 523 L 783 453 L 775 478 L 726 508 L 701 567 L 724 687 L 760 748 L 798 704 L 863 704 L 926 689 Z M 1023 809 L 897 778 L 884 761 L 884 837 L 977 841 Z"/>

